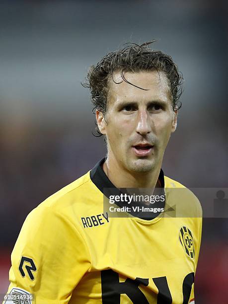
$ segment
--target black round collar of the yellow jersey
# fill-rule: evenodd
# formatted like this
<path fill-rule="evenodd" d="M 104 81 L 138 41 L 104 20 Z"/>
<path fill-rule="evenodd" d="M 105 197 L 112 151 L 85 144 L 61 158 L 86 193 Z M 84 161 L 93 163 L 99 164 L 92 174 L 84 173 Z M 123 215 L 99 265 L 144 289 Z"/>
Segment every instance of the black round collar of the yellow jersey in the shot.
<path fill-rule="evenodd" d="M 112 188 L 115 191 L 115 194 L 117 193 L 118 189 L 116 188 L 116 186 L 113 185 L 113 183 L 108 179 L 107 175 L 104 173 L 104 170 L 102 169 L 102 164 L 105 162 L 106 158 L 102 158 L 100 161 L 98 161 L 95 166 L 92 168 L 92 170 L 90 171 L 90 179 L 91 181 L 96 185 L 96 187 L 105 195 L 105 196 L 109 196 L 111 195 L 111 193 L 109 192 L 107 195 L 107 191 L 104 193 L 104 188 L 108 188 L 109 190 Z M 161 193 L 164 194 L 164 173 L 162 171 L 162 169 L 160 169 L 160 173 L 158 176 L 158 180 L 160 182 L 161 185 Z M 113 193 L 114 193 L 113 192 Z M 123 205 L 119 202 L 116 203 L 116 205 L 118 205 L 119 207 L 123 207 Z M 158 206 L 160 208 L 164 208 L 165 202 L 162 204 L 162 206 Z M 148 207 L 148 206 L 147 206 Z M 152 206 L 155 207 L 155 206 Z M 157 207 L 157 206 L 156 206 Z M 131 213 L 132 214 L 132 213 Z M 155 217 L 157 217 L 159 215 L 159 213 L 156 213 L 156 216 L 154 216 L 154 214 L 150 214 L 151 217 L 140 217 L 137 216 L 141 219 L 145 219 L 145 220 L 152 220 Z"/>

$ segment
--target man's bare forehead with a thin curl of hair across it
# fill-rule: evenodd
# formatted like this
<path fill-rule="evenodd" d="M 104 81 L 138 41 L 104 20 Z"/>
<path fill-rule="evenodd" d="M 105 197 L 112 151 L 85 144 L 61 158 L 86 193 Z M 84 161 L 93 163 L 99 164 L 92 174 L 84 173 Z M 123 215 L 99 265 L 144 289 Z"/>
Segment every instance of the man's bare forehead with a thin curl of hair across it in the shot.
<path fill-rule="evenodd" d="M 168 79 L 164 72 L 126 72 L 124 77 L 127 81 L 140 88 L 124 81 L 120 71 L 113 73 L 113 79 L 117 83 L 112 78 L 109 79 L 107 98 L 109 105 L 122 101 L 147 102 L 162 100 L 171 102 Z"/>

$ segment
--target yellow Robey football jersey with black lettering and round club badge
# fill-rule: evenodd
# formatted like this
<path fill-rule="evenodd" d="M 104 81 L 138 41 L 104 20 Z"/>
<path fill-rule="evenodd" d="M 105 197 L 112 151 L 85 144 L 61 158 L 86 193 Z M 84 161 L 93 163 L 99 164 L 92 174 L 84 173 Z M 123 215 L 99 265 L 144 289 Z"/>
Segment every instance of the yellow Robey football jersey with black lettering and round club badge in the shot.
<path fill-rule="evenodd" d="M 7 296 L 31 295 L 28 304 L 194 303 L 198 199 L 161 170 L 165 210 L 188 202 L 194 216 L 110 217 L 103 189 L 114 185 L 103 162 L 27 216 L 11 254 Z M 187 200 L 178 202 L 172 188 L 185 188 Z"/>

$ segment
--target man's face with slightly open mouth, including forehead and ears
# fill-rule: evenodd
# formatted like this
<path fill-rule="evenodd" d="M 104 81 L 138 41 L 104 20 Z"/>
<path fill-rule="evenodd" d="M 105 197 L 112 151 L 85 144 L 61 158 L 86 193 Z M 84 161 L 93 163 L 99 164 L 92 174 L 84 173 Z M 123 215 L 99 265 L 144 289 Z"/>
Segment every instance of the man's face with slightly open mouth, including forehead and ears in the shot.
<path fill-rule="evenodd" d="M 170 134 L 176 129 L 167 78 L 163 72 L 124 74 L 141 88 L 122 81 L 120 72 L 109 80 L 105 117 L 96 113 L 99 130 L 107 137 L 109 157 L 129 172 L 147 173 L 161 165 Z"/>

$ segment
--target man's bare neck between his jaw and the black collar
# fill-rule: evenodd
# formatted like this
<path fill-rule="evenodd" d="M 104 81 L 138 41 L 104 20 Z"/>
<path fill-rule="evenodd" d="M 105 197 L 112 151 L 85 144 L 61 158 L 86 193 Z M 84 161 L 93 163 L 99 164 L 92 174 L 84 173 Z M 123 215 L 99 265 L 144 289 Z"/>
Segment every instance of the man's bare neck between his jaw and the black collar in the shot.
<path fill-rule="evenodd" d="M 109 180 L 117 188 L 150 188 L 160 187 L 158 176 L 161 164 L 147 173 L 127 171 L 114 158 L 108 156 L 103 164 L 103 170 Z"/>

